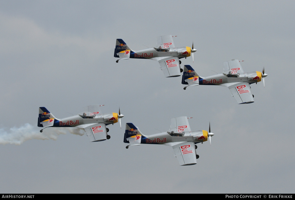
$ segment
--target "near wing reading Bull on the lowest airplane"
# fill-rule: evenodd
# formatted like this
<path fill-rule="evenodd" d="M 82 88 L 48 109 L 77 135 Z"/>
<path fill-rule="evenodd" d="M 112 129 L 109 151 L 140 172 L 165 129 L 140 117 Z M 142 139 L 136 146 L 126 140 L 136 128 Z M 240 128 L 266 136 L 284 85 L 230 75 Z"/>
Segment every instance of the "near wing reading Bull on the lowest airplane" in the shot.
<path fill-rule="evenodd" d="M 195 143 L 192 141 L 183 142 L 172 146 L 174 156 L 177 158 L 179 165 L 194 165 L 196 161 Z"/>

